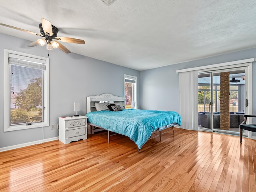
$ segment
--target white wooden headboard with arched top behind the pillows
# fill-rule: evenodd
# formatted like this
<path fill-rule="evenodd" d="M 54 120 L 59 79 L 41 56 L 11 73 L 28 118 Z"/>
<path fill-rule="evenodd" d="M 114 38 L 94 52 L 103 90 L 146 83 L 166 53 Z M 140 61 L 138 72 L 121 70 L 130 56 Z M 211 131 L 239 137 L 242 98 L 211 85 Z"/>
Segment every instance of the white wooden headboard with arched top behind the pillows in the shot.
<path fill-rule="evenodd" d="M 87 113 L 91 111 L 96 111 L 95 102 L 123 102 L 123 106 L 125 108 L 125 98 L 124 97 L 119 97 L 119 96 L 114 96 L 110 93 L 104 93 L 101 95 L 96 95 L 96 96 L 88 96 L 87 97 Z"/>

